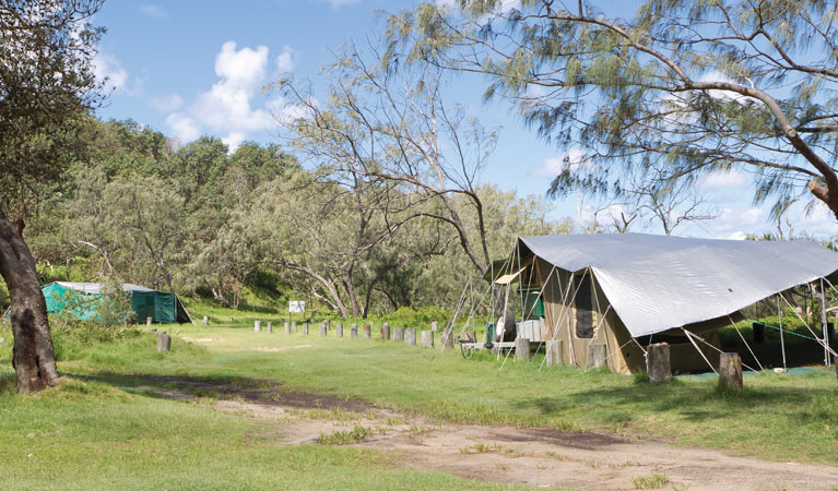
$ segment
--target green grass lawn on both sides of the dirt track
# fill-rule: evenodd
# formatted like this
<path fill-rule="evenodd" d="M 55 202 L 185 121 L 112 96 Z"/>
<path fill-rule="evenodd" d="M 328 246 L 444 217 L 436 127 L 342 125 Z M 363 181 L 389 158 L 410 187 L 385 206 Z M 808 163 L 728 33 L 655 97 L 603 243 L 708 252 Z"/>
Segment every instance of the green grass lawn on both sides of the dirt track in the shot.
<path fill-rule="evenodd" d="M 131 388 L 149 385 L 151 375 L 241 385 L 270 380 L 285 391 L 327 393 L 449 421 L 600 429 L 838 465 L 835 371 L 759 374 L 746 379 L 740 394 L 719 391 L 715 380 L 653 386 L 642 378 L 600 371 L 539 372 L 539 357 L 510 359 L 498 372 L 491 356 L 467 361 L 459 352 L 351 339 L 347 327 L 343 339 L 333 331 L 320 338 L 316 326 L 307 337 L 286 336 L 281 324 L 273 334 L 253 333 L 255 315 L 237 323 L 170 326 L 179 334 L 165 355 L 155 351 L 153 335 L 113 344 L 59 339 L 67 383 L 29 396 L 12 392 L 10 343 L 0 345 L 0 482 L 7 489 L 486 487 L 400 469 L 392 457 L 373 451 L 283 445 L 267 422 Z M 10 338 L 4 332 L 0 337 Z"/>

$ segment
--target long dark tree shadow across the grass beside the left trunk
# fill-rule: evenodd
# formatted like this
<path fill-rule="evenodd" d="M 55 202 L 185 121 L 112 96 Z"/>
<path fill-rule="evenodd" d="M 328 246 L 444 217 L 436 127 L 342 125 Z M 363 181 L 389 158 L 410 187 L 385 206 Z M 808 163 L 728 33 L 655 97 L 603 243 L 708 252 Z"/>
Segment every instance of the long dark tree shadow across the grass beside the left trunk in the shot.
<path fill-rule="evenodd" d="M 210 397 L 216 399 L 239 399 L 264 406 L 283 406 L 296 409 L 342 409 L 363 412 L 367 404 L 350 398 L 340 398 L 323 394 L 294 391 L 282 387 L 275 381 L 250 379 L 232 375 L 152 375 L 119 373 L 61 373 L 61 376 L 85 382 L 98 382 L 111 385 L 135 395 L 155 398 L 184 398 L 182 395 Z M 164 388 L 163 391 L 147 387 Z M 177 392 L 165 391 L 165 388 Z"/>

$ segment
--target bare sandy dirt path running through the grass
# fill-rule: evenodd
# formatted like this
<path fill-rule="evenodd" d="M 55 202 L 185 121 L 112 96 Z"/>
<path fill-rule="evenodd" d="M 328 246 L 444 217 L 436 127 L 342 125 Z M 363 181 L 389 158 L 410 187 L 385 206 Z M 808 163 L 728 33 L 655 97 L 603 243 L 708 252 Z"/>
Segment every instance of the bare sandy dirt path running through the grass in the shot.
<path fill-rule="evenodd" d="M 398 465 L 492 482 L 625 490 L 636 489 L 636 479 L 654 472 L 668 478 L 663 489 L 838 490 L 838 468 L 823 465 L 764 462 L 597 432 L 438 423 L 330 396 L 283 393 L 275 386 L 241 390 L 162 382 L 168 387 L 135 388 L 172 398 L 213 390 L 222 397 L 215 409 L 275 422 L 276 434 L 288 444 L 316 443 L 321 435 L 363 427 L 370 434 L 353 444 L 396 454 Z M 227 396 L 236 398 L 223 398 Z"/>

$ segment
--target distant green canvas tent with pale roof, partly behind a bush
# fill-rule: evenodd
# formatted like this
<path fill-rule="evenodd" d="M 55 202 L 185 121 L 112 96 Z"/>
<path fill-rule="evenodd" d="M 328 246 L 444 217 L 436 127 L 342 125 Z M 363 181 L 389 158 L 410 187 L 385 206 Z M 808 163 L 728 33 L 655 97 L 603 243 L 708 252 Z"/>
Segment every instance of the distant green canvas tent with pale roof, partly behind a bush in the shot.
<path fill-rule="evenodd" d="M 81 320 L 96 319 L 102 290 L 103 286 L 97 283 L 70 282 L 56 282 L 42 288 L 48 313 L 72 309 L 72 315 Z M 162 324 L 191 322 L 184 304 L 174 294 L 128 283 L 122 284 L 122 290 L 130 296 L 131 310 L 135 312 L 134 322 L 145 322 L 146 318 Z"/>

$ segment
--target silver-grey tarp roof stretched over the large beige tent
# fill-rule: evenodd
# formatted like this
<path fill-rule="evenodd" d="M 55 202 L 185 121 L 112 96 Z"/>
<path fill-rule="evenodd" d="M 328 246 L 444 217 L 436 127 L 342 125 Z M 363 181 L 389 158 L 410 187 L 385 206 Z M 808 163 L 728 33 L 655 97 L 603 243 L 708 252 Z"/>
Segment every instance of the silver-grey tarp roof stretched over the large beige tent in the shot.
<path fill-rule="evenodd" d="M 522 254 L 530 250 L 562 270 L 590 266 L 634 336 L 724 316 L 838 270 L 838 252 L 806 240 L 604 233 L 520 241 Z"/>

